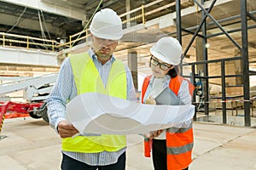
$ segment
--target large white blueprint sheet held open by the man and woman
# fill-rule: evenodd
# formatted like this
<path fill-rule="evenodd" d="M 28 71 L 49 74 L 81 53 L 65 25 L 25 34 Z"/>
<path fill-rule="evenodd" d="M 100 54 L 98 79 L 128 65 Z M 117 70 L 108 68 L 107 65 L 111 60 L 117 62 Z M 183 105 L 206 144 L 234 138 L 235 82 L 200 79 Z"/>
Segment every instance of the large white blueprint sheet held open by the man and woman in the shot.
<path fill-rule="evenodd" d="M 148 133 L 188 121 L 194 112 L 194 105 L 145 105 L 97 93 L 67 104 L 69 122 L 84 135 Z"/>

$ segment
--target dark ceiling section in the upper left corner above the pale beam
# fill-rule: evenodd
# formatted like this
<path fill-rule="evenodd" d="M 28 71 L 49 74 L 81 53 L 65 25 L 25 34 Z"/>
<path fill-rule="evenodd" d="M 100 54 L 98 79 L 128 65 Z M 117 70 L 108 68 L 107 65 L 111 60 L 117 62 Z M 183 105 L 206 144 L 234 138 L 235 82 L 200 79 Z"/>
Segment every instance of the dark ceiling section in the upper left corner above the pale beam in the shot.
<path fill-rule="evenodd" d="M 44 31 L 47 39 L 54 40 L 67 38 L 83 29 L 81 20 L 3 1 L 0 1 L 0 18 L 2 32 L 42 37 Z"/>

